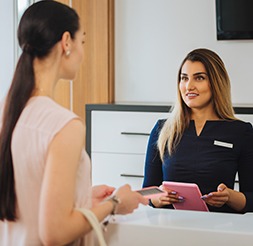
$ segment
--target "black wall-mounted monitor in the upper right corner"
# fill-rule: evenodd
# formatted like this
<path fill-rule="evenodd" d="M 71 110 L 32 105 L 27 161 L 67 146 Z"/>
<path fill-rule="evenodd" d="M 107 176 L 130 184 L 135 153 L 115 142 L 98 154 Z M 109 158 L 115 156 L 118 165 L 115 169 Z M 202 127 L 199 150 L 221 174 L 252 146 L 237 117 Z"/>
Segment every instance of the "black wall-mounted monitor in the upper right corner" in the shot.
<path fill-rule="evenodd" d="M 216 0 L 218 40 L 253 39 L 253 0 Z"/>

